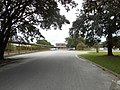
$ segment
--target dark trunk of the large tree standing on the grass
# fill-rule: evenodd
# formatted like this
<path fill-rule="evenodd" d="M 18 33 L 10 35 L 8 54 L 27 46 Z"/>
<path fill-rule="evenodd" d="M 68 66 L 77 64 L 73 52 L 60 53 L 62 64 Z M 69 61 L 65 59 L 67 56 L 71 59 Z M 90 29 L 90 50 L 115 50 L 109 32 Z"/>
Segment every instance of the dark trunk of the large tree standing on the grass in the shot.
<path fill-rule="evenodd" d="M 113 48 L 113 41 L 112 41 L 113 37 L 112 37 L 112 32 L 109 29 L 108 30 L 108 38 L 107 38 L 107 42 L 108 42 L 108 56 L 113 56 L 112 53 L 112 48 Z"/>

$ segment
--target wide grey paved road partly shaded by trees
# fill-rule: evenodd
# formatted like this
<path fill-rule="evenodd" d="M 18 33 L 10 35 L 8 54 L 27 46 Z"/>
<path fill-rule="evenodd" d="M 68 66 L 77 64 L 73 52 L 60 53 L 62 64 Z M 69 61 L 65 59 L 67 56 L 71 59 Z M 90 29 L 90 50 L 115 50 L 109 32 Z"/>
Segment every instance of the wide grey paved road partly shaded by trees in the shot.
<path fill-rule="evenodd" d="M 0 90 L 109 90 L 114 76 L 76 57 L 84 52 L 46 51 L 18 55 L 0 69 Z"/>

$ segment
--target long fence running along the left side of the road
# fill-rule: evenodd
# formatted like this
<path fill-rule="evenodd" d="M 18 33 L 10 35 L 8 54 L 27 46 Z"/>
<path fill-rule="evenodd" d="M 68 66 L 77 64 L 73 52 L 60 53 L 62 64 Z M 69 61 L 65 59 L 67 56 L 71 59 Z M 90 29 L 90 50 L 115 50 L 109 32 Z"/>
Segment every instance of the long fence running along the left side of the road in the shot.
<path fill-rule="evenodd" d="M 31 44 L 31 43 L 21 43 L 21 42 L 8 42 L 4 55 L 14 55 L 21 53 L 30 53 L 36 51 L 49 50 L 50 46 L 42 44 Z"/>

